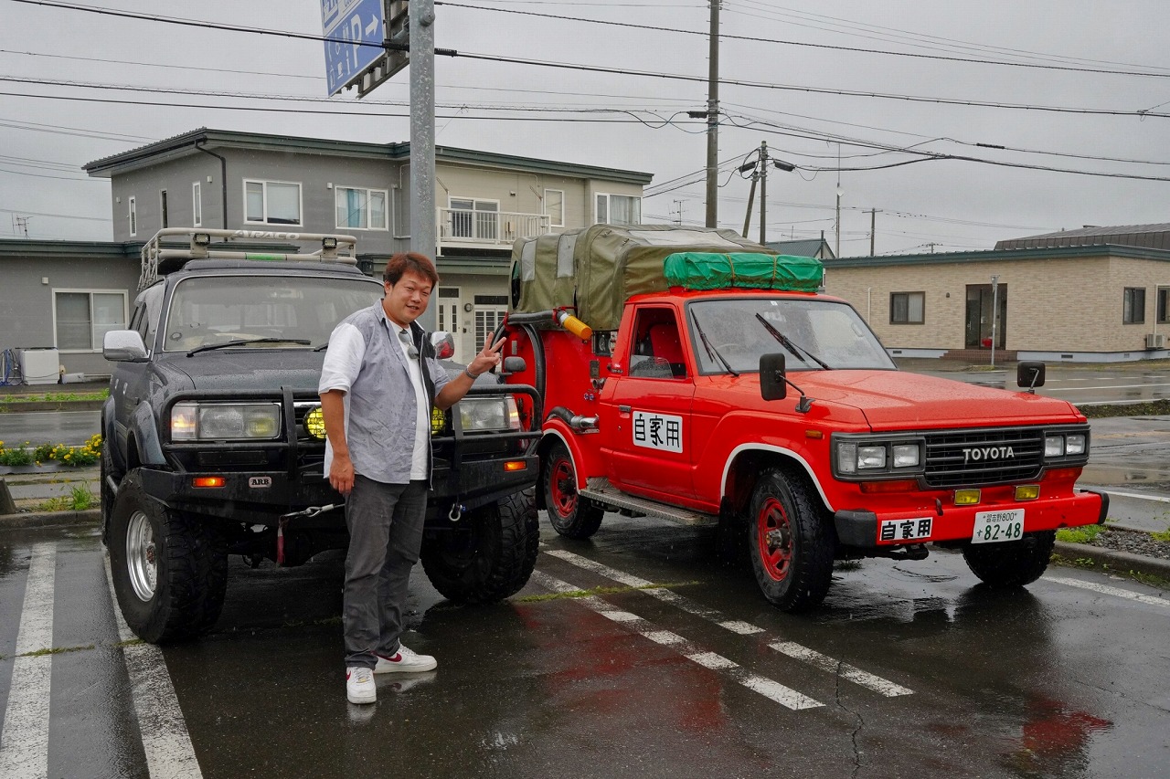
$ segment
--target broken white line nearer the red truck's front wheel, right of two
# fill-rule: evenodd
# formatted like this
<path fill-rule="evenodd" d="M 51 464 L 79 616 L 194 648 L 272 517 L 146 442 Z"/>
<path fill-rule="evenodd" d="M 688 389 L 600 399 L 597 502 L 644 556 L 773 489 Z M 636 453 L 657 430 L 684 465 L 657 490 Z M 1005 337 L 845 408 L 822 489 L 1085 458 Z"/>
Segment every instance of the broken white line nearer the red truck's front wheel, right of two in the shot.
<path fill-rule="evenodd" d="M 729 620 L 723 613 L 714 608 L 701 606 L 700 604 L 696 604 L 689 598 L 680 595 L 679 593 L 673 592 L 670 590 L 665 590 L 660 587 L 647 588 L 647 586 L 652 584 L 651 581 L 625 573 L 622 571 L 618 571 L 615 568 L 611 568 L 610 566 L 598 563 L 596 560 L 591 560 L 587 557 L 581 557 L 580 554 L 576 554 L 573 552 L 562 549 L 544 549 L 544 553 L 549 554 L 550 557 L 564 560 L 565 563 L 576 565 L 579 568 L 585 568 L 586 571 L 592 571 L 593 573 L 598 573 L 607 579 L 612 579 L 628 587 L 641 587 L 644 588 L 644 592 L 647 595 L 652 595 L 654 598 L 658 598 L 659 600 L 668 602 L 672 606 L 675 606 L 687 612 L 688 614 L 694 614 L 695 616 L 700 616 L 709 622 L 714 622 L 721 628 L 731 630 L 732 633 L 737 633 L 739 635 L 755 635 L 759 633 L 766 633 L 764 628 L 752 625 L 750 622 L 743 622 L 739 620 Z M 766 636 L 764 637 L 764 640 L 766 640 Z M 792 657 L 793 660 L 799 660 L 800 662 L 808 663 L 814 668 L 820 668 L 821 670 L 826 670 L 831 674 L 840 673 L 841 678 L 854 682 L 855 684 L 860 684 L 861 687 L 870 689 L 874 692 L 878 692 L 879 695 L 885 695 L 886 697 L 895 697 L 899 695 L 914 694 L 914 690 L 909 688 L 902 687 L 901 684 L 895 684 L 889 680 L 885 680 L 880 676 L 866 673 L 859 668 L 849 666 L 848 663 L 842 663 L 838 660 L 834 660 L 833 657 L 823 655 L 819 652 L 808 649 L 807 647 L 801 647 L 800 644 L 793 643 L 791 641 L 777 641 L 769 643 L 768 646 L 775 649 L 776 652 L 779 652 L 789 657 Z"/>

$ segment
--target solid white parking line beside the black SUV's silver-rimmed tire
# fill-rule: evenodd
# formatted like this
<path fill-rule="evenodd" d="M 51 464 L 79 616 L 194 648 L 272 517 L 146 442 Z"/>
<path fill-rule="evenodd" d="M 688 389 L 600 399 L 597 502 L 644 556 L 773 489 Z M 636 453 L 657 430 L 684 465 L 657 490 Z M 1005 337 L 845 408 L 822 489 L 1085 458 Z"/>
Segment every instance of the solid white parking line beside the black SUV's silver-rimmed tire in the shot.
<path fill-rule="evenodd" d="M 110 586 L 110 598 L 113 599 L 118 635 L 123 641 L 132 641 L 135 634 L 122 618 L 118 598 L 113 592 L 110 558 L 106 556 L 104 561 L 105 581 Z M 151 779 L 202 779 L 163 650 L 152 643 L 131 643 L 123 647 L 123 654 Z"/>

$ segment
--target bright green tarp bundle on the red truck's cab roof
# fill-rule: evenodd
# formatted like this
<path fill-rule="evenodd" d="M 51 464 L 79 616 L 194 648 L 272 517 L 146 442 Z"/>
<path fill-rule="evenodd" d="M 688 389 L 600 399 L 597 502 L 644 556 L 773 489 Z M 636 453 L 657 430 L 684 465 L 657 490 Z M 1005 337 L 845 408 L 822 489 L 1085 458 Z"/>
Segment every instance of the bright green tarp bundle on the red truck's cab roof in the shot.
<path fill-rule="evenodd" d="M 686 289 L 779 289 L 815 292 L 824 278 L 820 260 L 756 253 L 681 251 L 663 264 L 670 287 Z"/>

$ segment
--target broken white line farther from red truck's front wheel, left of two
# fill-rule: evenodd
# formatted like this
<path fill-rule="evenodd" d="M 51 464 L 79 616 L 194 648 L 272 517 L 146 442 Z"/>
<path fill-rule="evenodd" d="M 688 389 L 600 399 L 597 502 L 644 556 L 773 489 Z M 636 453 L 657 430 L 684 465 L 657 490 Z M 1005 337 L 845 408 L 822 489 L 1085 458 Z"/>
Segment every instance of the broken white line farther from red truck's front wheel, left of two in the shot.
<path fill-rule="evenodd" d="M 580 587 L 550 577 L 541 571 L 532 572 L 532 580 L 552 592 L 580 591 Z M 651 641 L 654 641 L 655 643 L 675 649 L 682 654 L 683 657 L 702 666 L 703 668 L 729 676 L 734 681 L 746 687 L 749 690 L 759 692 L 764 697 L 779 703 L 782 706 L 792 709 L 793 711 L 799 711 L 801 709 L 815 709 L 817 706 L 825 705 L 824 703 L 814 701 L 806 695 L 801 695 L 791 688 L 784 687 L 779 682 L 753 674 L 734 660 L 729 660 L 714 652 L 706 652 L 676 633 L 670 633 L 669 630 L 658 630 L 654 628 L 652 622 L 644 620 L 636 614 L 622 611 L 597 595 L 589 595 L 576 600 L 583 606 L 592 608 L 601 616 L 620 622 L 625 627 L 649 639 Z"/>

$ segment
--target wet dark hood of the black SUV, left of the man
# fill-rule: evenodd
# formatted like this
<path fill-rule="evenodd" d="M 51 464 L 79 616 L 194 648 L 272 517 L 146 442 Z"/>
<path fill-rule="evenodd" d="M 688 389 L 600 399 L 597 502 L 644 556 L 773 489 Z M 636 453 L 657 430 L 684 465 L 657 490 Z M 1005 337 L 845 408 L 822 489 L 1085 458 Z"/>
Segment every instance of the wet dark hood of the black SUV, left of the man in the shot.
<path fill-rule="evenodd" d="M 191 389 L 317 389 L 321 380 L 321 364 L 325 352 L 314 352 L 308 347 L 282 349 L 219 349 L 187 357 L 177 353 L 165 361 L 167 378 L 181 379 Z M 163 367 L 163 363 L 158 364 Z M 173 373 L 172 373 L 173 371 Z"/>

